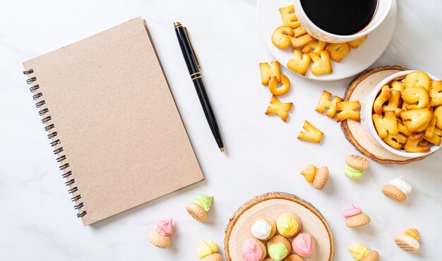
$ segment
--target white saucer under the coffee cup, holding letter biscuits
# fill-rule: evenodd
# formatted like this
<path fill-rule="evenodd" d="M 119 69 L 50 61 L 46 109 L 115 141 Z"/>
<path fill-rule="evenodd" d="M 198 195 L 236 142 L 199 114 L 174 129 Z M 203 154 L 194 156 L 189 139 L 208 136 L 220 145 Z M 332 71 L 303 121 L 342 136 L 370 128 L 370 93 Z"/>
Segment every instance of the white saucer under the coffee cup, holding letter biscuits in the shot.
<path fill-rule="evenodd" d="M 293 4 L 293 0 L 258 0 L 258 25 L 261 37 L 270 53 L 287 68 L 287 61 L 292 59 L 292 48 L 279 49 L 272 43 L 273 31 L 282 25 L 279 8 Z M 336 63 L 332 61 L 333 73 L 313 75 L 310 70 L 304 77 L 313 80 L 340 80 L 356 75 L 371 66 L 385 51 L 396 27 L 398 6 L 393 1 L 390 13 L 376 30 L 369 34 L 366 41 L 357 49 L 352 49 L 345 59 Z M 294 73 L 299 75 L 298 73 Z"/>

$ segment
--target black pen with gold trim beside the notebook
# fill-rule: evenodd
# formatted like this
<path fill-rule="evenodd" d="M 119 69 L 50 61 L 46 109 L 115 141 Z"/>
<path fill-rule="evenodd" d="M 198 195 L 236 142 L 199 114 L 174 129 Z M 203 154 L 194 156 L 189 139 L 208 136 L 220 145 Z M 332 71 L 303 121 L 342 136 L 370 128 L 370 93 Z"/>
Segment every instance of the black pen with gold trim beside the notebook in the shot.
<path fill-rule="evenodd" d="M 195 51 L 193 50 L 187 28 L 185 28 L 179 22 L 174 23 L 174 28 L 175 32 L 177 32 L 179 46 L 181 47 L 181 51 L 183 52 L 184 60 L 186 61 L 187 68 L 189 69 L 189 74 L 191 75 L 193 85 L 195 85 L 196 93 L 198 93 L 198 98 L 200 99 L 201 106 L 203 107 L 205 119 L 207 119 L 209 123 L 210 130 L 212 130 L 213 136 L 215 137 L 215 140 L 218 147 L 220 147 L 221 152 L 225 152 L 220 129 L 218 128 L 218 124 L 216 122 L 215 115 L 213 114 L 212 107 L 210 106 L 207 94 L 205 93 L 202 79 L 203 75 L 201 75 L 200 72 L 201 66 L 198 58 L 196 57 Z"/>

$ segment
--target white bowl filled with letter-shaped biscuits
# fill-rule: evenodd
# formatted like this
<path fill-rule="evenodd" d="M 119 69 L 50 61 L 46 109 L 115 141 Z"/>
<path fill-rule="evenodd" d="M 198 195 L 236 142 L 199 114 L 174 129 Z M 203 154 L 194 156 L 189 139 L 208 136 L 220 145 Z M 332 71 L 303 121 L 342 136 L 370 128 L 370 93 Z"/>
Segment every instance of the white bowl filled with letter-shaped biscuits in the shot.
<path fill-rule="evenodd" d="M 381 82 L 374 87 L 373 90 L 369 93 L 369 95 L 366 96 L 366 99 L 364 102 L 362 102 L 361 107 L 361 124 L 362 129 L 364 130 L 365 135 L 372 141 L 374 144 L 378 145 L 378 147 L 381 147 L 385 150 L 388 150 L 389 152 L 392 152 L 396 155 L 402 156 L 402 157 L 409 157 L 409 158 L 416 158 L 416 157 L 422 157 L 428 154 L 431 154 L 435 152 L 436 150 L 440 149 L 441 146 L 436 145 L 429 145 L 430 150 L 429 152 L 406 152 L 405 150 L 396 150 L 393 149 L 393 147 L 390 147 L 386 142 L 383 142 L 383 140 L 379 137 L 378 133 L 376 132 L 376 128 L 374 127 L 372 114 L 373 114 L 373 104 L 374 100 L 376 99 L 376 96 L 378 95 L 378 92 L 381 90 L 383 85 L 386 85 L 390 83 L 393 80 L 401 80 L 405 78 L 405 76 L 408 73 L 412 73 L 413 71 L 400 71 L 398 73 L 395 73 L 393 75 L 390 75 L 389 77 L 381 80 Z M 431 80 L 439 80 L 434 75 L 431 75 L 427 73 Z"/>

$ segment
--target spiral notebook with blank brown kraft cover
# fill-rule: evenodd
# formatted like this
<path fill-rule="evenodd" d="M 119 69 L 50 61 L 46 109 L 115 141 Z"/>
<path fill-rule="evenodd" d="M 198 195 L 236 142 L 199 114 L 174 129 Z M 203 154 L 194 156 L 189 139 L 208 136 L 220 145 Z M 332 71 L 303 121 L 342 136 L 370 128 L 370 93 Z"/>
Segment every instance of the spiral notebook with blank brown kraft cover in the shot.
<path fill-rule="evenodd" d="M 142 18 L 23 66 L 84 225 L 203 180 Z"/>

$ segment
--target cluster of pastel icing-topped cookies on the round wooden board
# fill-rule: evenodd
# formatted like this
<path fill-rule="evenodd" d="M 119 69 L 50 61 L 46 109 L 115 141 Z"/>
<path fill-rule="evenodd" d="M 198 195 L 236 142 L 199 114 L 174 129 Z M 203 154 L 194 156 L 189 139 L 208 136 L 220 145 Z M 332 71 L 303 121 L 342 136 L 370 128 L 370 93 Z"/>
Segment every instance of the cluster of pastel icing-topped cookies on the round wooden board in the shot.
<path fill-rule="evenodd" d="M 301 227 L 301 219 L 293 212 L 280 214 L 276 221 L 258 217 L 250 228 L 253 237 L 241 246 L 241 255 L 245 261 L 302 261 L 313 254 L 316 241 Z"/>

